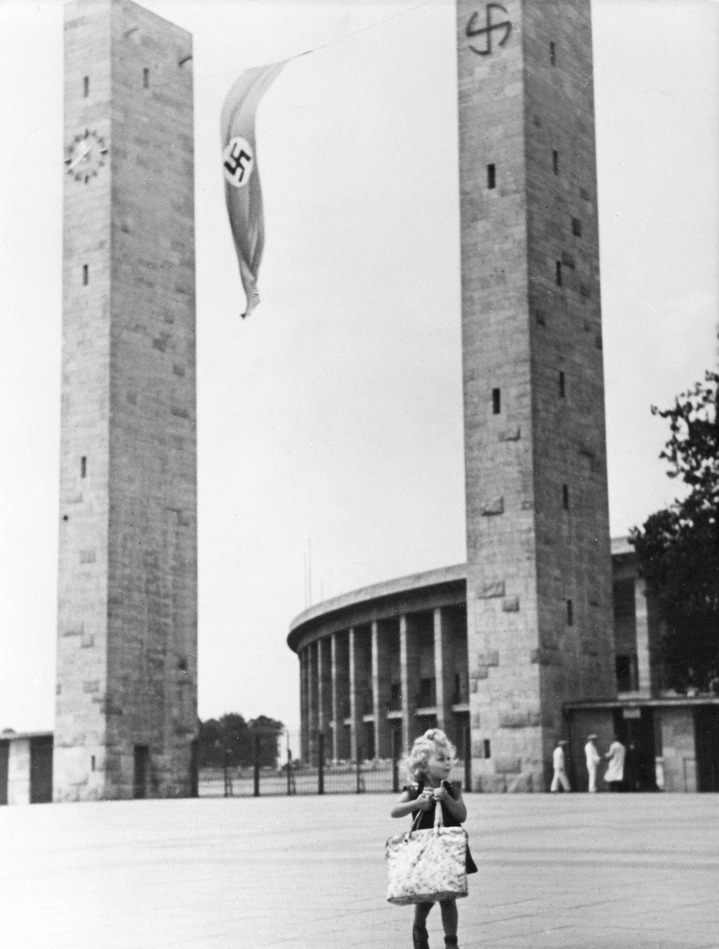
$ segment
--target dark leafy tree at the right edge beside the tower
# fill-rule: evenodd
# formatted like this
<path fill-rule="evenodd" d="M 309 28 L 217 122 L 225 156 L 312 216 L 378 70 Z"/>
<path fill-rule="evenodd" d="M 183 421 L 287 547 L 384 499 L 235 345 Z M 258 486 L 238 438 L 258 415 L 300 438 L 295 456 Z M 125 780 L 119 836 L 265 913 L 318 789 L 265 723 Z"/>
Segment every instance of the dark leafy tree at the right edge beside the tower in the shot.
<path fill-rule="evenodd" d="M 706 688 L 719 670 L 719 373 L 707 372 L 673 408 L 660 457 L 689 489 L 630 532 L 639 572 L 664 621 L 667 685 Z"/>

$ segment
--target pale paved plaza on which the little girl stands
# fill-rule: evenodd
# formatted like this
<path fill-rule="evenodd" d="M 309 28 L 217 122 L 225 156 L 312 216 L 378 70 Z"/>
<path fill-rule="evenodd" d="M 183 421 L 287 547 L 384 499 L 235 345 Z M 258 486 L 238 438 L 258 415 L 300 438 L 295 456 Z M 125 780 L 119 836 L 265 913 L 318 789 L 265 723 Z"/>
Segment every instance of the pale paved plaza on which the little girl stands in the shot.
<path fill-rule="evenodd" d="M 384 901 L 392 799 L 2 808 L 0 944 L 411 949 L 412 909 Z M 462 949 L 719 949 L 719 796 L 466 800 Z"/>

